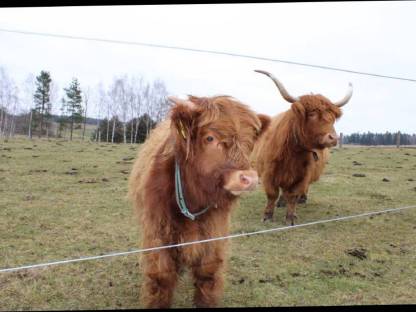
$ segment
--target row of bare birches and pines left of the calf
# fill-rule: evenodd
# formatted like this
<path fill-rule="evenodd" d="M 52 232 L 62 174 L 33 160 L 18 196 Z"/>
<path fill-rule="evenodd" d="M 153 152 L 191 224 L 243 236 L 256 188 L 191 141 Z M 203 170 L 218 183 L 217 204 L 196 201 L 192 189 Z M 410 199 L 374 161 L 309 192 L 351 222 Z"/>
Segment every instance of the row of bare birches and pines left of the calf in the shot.
<path fill-rule="evenodd" d="M 141 143 L 169 109 L 162 80 L 147 82 L 126 74 L 113 77 L 107 88 L 102 82 L 81 87 L 73 78 L 63 88 L 63 96 L 58 95 L 58 85 L 48 71 L 42 70 L 36 77 L 29 74 L 18 85 L 0 67 L 0 139 L 24 134 L 72 140 L 76 129 L 84 139 L 88 125 L 91 140 Z M 97 118 L 87 117 L 91 107 Z M 53 114 L 58 109 L 60 113 Z"/>

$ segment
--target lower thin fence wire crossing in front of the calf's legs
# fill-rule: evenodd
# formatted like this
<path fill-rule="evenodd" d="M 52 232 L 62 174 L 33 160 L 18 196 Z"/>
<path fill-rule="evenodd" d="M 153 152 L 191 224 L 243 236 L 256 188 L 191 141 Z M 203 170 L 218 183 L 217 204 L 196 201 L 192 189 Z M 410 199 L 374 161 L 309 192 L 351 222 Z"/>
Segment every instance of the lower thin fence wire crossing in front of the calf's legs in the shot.
<path fill-rule="evenodd" d="M 77 259 L 61 260 L 61 261 L 54 261 L 54 262 L 47 262 L 47 263 L 40 263 L 40 264 L 25 265 L 25 266 L 14 267 L 14 268 L 6 268 L 6 269 L 0 269 L 0 273 L 13 272 L 13 271 L 18 271 L 18 270 L 23 270 L 23 269 L 33 269 L 33 268 L 39 268 L 39 267 L 46 267 L 46 266 L 57 265 L 57 264 L 66 264 L 66 263 L 71 263 L 71 262 L 80 262 L 80 261 L 96 260 L 96 259 L 102 259 L 102 258 L 108 258 L 108 257 L 125 256 L 125 255 L 130 255 L 130 254 L 133 254 L 133 253 L 158 251 L 158 250 L 163 250 L 163 249 L 168 249 L 168 248 L 183 247 L 183 246 L 189 246 L 189 245 L 194 245 L 194 244 L 202 244 L 202 243 L 208 243 L 208 242 L 213 242 L 213 241 L 219 241 L 219 240 L 224 240 L 224 239 L 228 239 L 228 238 L 236 238 L 236 237 L 241 237 L 241 236 L 251 236 L 251 235 L 256 235 L 256 234 L 264 234 L 264 233 L 270 233 L 270 232 L 284 231 L 284 230 L 296 229 L 296 228 L 300 228 L 300 227 L 316 225 L 316 224 L 323 224 L 323 223 L 328 223 L 328 222 L 333 222 L 333 221 L 343 221 L 343 220 L 349 220 L 349 219 L 353 219 L 353 218 L 371 216 L 371 215 L 382 214 L 382 213 L 387 213 L 387 212 L 396 212 L 396 211 L 415 208 L 415 207 L 416 207 L 416 205 L 404 206 L 404 207 L 391 208 L 391 209 L 380 210 L 380 211 L 365 212 L 365 213 L 361 213 L 361 214 L 358 214 L 358 215 L 338 217 L 338 218 L 327 219 L 327 220 L 318 220 L 318 221 L 313 221 L 313 222 L 308 222 L 308 223 L 303 223 L 303 224 L 296 224 L 296 225 L 292 225 L 292 226 L 284 226 L 284 227 L 267 229 L 267 230 L 260 230 L 260 231 L 255 231 L 255 232 L 247 232 L 247 233 L 243 232 L 243 233 L 233 234 L 233 235 L 229 235 L 229 236 L 214 237 L 214 238 L 209 238 L 209 239 L 203 239 L 203 240 L 191 241 L 191 242 L 185 242 L 185 243 L 179 243 L 179 244 L 173 244 L 173 245 L 143 248 L 143 249 L 137 249 L 137 250 L 131 250 L 131 251 L 125 251 L 125 252 L 109 253 L 109 254 L 100 255 L 100 256 L 82 257 L 82 258 L 77 258 Z"/>

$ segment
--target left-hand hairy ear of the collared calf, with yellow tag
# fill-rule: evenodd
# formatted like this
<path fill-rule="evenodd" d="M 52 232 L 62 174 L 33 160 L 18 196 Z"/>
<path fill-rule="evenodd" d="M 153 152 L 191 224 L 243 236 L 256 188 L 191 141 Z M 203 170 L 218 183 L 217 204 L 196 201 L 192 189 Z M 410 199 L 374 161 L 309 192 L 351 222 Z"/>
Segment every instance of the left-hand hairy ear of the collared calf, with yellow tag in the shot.
<path fill-rule="evenodd" d="M 171 127 L 176 137 L 179 152 L 188 159 L 191 154 L 191 141 L 194 136 L 196 119 L 200 114 L 197 106 L 187 100 L 169 97 L 175 105 L 171 109 Z"/>

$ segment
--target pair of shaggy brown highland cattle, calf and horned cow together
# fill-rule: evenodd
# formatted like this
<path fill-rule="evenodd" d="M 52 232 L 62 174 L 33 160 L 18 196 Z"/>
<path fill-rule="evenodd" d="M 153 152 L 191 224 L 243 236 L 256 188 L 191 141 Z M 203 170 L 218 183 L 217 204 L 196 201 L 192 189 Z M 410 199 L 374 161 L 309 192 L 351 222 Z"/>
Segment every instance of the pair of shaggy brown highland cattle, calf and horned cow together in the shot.
<path fill-rule="evenodd" d="M 138 213 L 142 247 L 157 247 L 227 236 L 233 204 L 259 181 L 267 196 L 263 221 L 272 220 L 279 191 L 287 203 L 286 222 L 294 225 L 296 204 L 319 179 L 337 144 L 338 102 L 317 95 L 292 96 L 267 75 L 289 110 L 271 118 L 256 114 L 230 96 L 169 97 L 169 118 L 141 147 L 129 179 Z M 149 308 L 171 306 L 179 274 L 189 267 L 194 304 L 214 307 L 223 292 L 227 242 L 160 249 L 141 258 L 141 296 Z"/>

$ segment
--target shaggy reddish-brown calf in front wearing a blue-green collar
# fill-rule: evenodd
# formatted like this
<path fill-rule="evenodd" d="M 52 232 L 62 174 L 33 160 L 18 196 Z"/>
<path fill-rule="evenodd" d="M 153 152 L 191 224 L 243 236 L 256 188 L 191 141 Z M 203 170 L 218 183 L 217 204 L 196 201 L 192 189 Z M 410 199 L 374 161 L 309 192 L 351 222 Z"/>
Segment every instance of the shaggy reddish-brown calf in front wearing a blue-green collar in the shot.
<path fill-rule="evenodd" d="M 226 236 L 233 204 L 258 183 L 249 155 L 270 121 L 227 96 L 169 99 L 176 104 L 170 119 L 140 149 L 129 181 L 143 248 Z M 145 305 L 169 307 L 178 274 L 188 266 L 195 305 L 215 306 L 225 251 L 219 240 L 144 254 Z"/>

